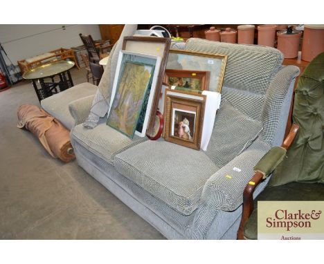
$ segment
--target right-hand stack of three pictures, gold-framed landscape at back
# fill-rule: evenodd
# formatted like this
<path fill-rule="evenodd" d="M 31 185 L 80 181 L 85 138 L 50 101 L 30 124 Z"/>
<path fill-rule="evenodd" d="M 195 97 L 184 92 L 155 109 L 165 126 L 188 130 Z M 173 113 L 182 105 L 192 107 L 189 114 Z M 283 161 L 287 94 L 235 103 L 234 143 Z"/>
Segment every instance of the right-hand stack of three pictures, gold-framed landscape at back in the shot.
<path fill-rule="evenodd" d="M 200 149 L 207 98 L 204 91 L 219 93 L 220 102 L 226 61 L 226 55 L 170 50 L 163 78 L 164 102 L 159 104 L 165 140 Z"/>

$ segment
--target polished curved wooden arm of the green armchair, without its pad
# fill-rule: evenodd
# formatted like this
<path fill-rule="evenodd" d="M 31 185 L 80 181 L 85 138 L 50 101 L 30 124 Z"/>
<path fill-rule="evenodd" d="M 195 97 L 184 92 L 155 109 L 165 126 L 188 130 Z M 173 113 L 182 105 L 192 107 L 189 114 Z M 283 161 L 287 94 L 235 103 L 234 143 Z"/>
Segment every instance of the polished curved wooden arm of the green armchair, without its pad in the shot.
<path fill-rule="evenodd" d="M 284 142 L 282 142 L 281 147 L 283 149 L 288 149 L 291 146 L 292 142 L 294 141 L 294 138 L 296 137 L 298 129 L 298 124 L 293 124 L 291 126 L 287 137 L 285 138 Z M 246 185 L 243 191 L 243 211 L 240 227 L 237 231 L 237 239 L 244 239 L 244 224 L 249 219 L 254 209 L 253 192 L 255 188 L 258 187 L 260 182 L 264 180 L 265 177 L 267 177 L 267 175 L 264 176 L 264 173 L 262 173 L 261 171 L 256 171 L 254 176 L 251 178 L 251 180 L 249 180 L 248 184 Z"/>

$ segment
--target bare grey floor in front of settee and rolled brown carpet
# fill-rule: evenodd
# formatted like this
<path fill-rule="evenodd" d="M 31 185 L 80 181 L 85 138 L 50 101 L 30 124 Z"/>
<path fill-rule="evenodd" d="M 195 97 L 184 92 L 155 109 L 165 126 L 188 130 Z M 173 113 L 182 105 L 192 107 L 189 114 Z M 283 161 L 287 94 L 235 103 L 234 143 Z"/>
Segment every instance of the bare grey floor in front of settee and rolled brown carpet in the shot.
<path fill-rule="evenodd" d="M 71 73 L 86 81 L 84 70 Z M 75 161 L 51 158 L 18 129 L 21 104 L 39 106 L 28 81 L 0 93 L 1 239 L 164 239 Z"/>

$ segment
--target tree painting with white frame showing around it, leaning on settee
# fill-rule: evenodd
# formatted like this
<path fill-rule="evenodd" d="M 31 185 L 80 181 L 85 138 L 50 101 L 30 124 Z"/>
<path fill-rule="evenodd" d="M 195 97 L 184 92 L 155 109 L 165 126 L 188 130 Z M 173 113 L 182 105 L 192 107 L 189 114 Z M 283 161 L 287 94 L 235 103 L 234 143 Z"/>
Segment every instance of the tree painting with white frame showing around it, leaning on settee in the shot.
<path fill-rule="evenodd" d="M 121 50 L 107 124 L 133 138 L 145 136 L 161 58 Z"/>

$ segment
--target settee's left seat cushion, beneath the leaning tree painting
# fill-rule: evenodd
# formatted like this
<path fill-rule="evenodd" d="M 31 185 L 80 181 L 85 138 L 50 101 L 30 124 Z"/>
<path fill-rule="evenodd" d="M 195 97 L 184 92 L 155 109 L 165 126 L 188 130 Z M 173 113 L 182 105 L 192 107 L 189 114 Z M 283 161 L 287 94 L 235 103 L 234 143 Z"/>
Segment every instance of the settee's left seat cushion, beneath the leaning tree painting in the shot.
<path fill-rule="evenodd" d="M 79 124 L 72 129 L 71 136 L 77 138 L 78 142 L 89 149 L 91 153 L 98 155 L 110 164 L 114 164 L 114 156 L 120 151 L 147 140 L 137 135 L 130 139 L 107 126 L 106 122 L 107 117 L 102 118 L 94 129 L 86 129 L 83 124 Z"/>

